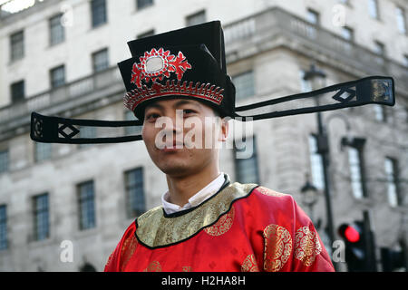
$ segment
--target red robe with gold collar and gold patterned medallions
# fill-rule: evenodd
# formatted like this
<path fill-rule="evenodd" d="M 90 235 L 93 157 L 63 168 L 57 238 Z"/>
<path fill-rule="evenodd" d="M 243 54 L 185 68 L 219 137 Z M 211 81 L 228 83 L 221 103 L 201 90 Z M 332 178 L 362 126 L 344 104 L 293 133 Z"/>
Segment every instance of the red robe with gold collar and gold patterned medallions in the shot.
<path fill-rule="evenodd" d="M 334 271 L 295 200 L 254 184 L 224 184 L 198 207 L 153 208 L 127 228 L 105 271 Z"/>

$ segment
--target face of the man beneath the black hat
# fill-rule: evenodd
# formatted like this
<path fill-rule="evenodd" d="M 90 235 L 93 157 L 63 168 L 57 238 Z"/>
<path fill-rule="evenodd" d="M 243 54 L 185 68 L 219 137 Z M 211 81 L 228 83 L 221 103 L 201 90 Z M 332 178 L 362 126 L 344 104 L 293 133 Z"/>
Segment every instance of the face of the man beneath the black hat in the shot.
<path fill-rule="evenodd" d="M 217 147 L 227 135 L 228 122 L 201 102 L 162 100 L 145 109 L 142 138 L 151 160 L 170 176 L 194 174 L 210 164 L 218 166 Z"/>

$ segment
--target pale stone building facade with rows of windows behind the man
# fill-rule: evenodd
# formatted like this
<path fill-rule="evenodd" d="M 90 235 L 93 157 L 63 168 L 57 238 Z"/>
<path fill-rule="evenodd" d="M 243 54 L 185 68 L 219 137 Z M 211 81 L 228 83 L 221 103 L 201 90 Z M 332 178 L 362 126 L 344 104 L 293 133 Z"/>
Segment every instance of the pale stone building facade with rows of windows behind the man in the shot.
<path fill-rule="evenodd" d="M 393 76 L 393 108 L 328 111 L 323 120 L 335 228 L 368 217 L 379 270 L 381 247 L 407 245 L 406 1 L 44 0 L 11 13 L 12 2 L 18 0 L 0 11 L 0 270 L 102 271 L 125 228 L 160 205 L 167 189 L 142 142 L 36 145 L 30 112 L 130 118 L 116 67 L 130 56 L 126 42 L 216 19 L 238 104 L 307 91 L 303 75 L 311 63 L 325 71 L 326 85 Z M 236 150 L 223 149 L 220 165 L 232 180 L 292 194 L 301 206 L 308 174 L 319 189 L 309 214 L 326 240 L 316 131 L 314 114 L 255 121 L 248 136 L 254 154 L 242 161 Z"/>

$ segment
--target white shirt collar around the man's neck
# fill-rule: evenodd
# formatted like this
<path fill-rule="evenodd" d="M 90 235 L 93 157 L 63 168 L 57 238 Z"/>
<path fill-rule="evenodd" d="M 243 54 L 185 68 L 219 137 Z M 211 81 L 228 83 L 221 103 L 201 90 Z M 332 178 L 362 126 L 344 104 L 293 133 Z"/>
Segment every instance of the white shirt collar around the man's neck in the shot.
<path fill-rule="evenodd" d="M 224 173 L 221 172 L 219 173 L 219 176 L 216 179 L 209 182 L 209 184 L 204 189 L 199 190 L 199 192 L 197 192 L 195 195 L 189 198 L 189 202 L 186 203 L 183 207 L 180 207 L 179 205 L 169 202 L 169 190 L 168 190 L 161 196 L 161 204 L 163 206 L 163 209 L 166 212 L 166 214 L 170 215 L 174 212 L 196 207 L 204 200 L 210 198 L 215 193 L 217 193 L 224 184 L 224 181 L 225 181 Z"/>

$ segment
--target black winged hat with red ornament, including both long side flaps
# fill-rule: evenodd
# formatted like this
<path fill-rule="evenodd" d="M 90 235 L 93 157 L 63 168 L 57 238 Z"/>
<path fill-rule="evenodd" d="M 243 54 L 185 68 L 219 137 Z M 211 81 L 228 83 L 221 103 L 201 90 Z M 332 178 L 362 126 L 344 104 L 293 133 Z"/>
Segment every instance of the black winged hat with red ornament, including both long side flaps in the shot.
<path fill-rule="evenodd" d="M 30 136 L 53 143 L 116 143 L 141 140 L 144 108 L 162 98 L 189 98 L 209 104 L 221 117 L 256 121 L 377 103 L 393 106 L 393 78 L 370 76 L 312 92 L 237 107 L 227 74 L 224 35 L 219 21 L 133 40 L 131 58 L 118 63 L 126 88 L 124 105 L 135 121 L 66 119 L 32 113 Z M 274 82 L 274 80 L 270 80 Z M 318 99 L 311 104 L 310 99 Z M 136 127 L 131 136 L 82 138 L 83 127 Z"/>

